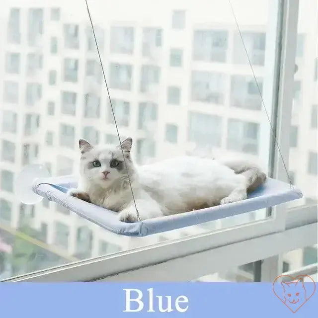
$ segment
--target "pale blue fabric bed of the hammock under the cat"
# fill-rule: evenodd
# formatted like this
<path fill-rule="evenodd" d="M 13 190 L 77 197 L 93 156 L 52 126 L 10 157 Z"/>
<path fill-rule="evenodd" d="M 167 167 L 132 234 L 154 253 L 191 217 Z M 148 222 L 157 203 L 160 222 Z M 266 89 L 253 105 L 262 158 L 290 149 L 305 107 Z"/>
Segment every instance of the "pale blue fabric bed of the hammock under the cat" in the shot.
<path fill-rule="evenodd" d="M 77 181 L 72 176 L 50 178 L 36 181 L 33 191 L 50 201 L 54 201 L 79 216 L 116 234 L 144 237 L 151 234 L 171 231 L 209 221 L 215 221 L 242 213 L 268 208 L 303 197 L 299 189 L 290 184 L 268 178 L 266 183 L 248 198 L 239 202 L 219 205 L 211 208 L 169 215 L 142 222 L 125 223 L 118 219 L 116 212 L 87 203 L 66 194 L 69 188 L 76 188 Z"/>

